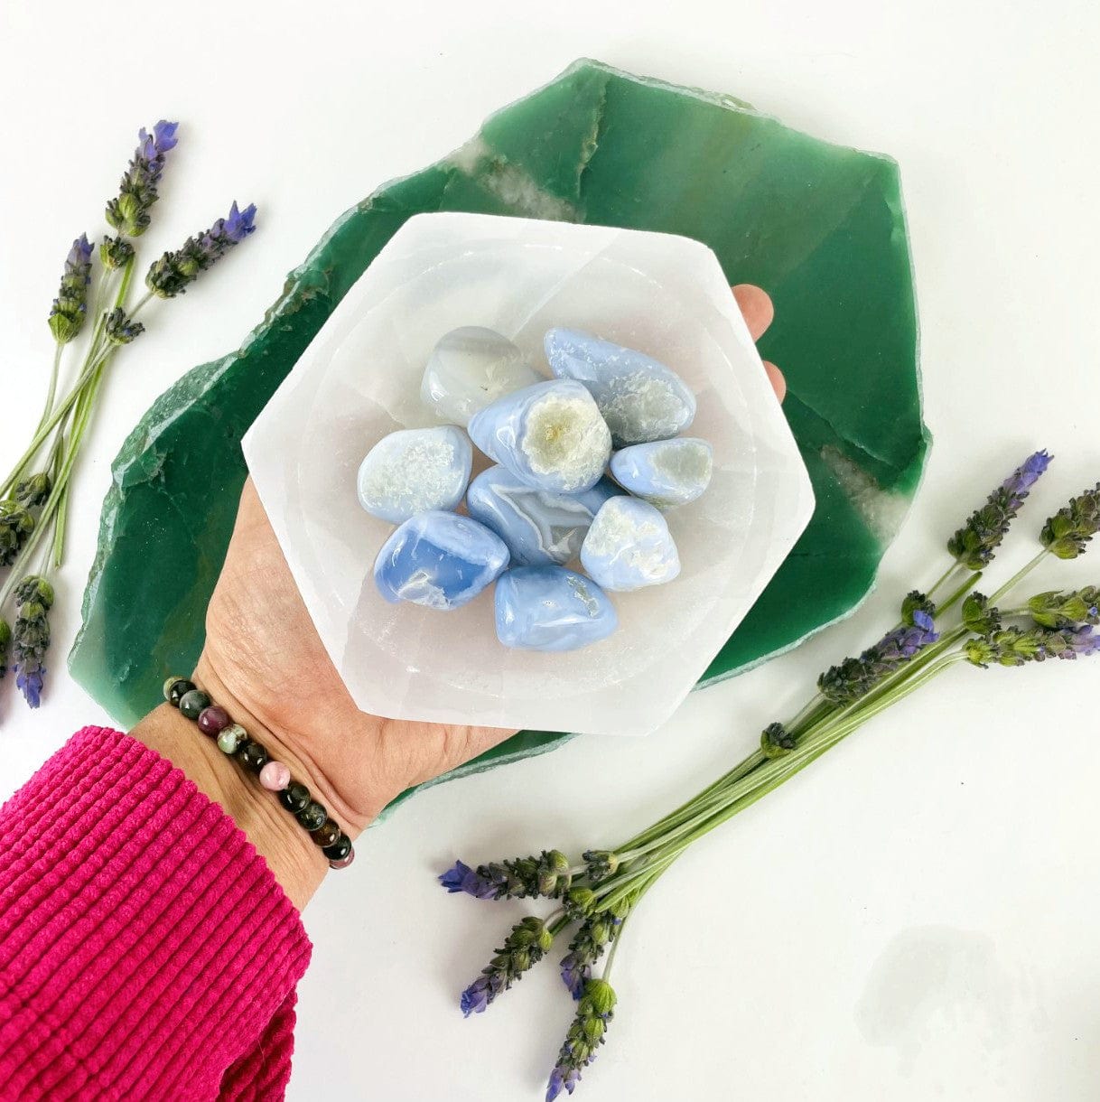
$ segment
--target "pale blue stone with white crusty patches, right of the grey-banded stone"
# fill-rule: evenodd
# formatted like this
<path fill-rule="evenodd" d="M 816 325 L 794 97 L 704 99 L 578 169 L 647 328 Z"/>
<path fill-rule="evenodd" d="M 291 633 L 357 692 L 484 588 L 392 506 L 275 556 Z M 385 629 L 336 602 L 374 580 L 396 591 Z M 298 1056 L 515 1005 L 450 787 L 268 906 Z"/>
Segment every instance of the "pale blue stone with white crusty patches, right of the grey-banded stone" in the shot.
<path fill-rule="evenodd" d="M 640 590 L 680 573 L 668 522 L 656 506 L 636 497 L 604 503 L 581 545 L 581 564 L 605 590 Z"/>

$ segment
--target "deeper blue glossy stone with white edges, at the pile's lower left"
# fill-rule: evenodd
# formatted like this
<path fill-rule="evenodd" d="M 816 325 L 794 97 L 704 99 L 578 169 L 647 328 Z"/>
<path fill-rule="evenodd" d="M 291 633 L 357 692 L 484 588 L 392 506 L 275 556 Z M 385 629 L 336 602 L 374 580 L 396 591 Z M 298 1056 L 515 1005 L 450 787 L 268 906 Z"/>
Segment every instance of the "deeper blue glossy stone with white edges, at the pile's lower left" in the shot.
<path fill-rule="evenodd" d="M 459 608 L 508 565 L 499 536 L 470 517 L 432 510 L 407 520 L 375 560 L 375 585 L 395 604 Z"/>

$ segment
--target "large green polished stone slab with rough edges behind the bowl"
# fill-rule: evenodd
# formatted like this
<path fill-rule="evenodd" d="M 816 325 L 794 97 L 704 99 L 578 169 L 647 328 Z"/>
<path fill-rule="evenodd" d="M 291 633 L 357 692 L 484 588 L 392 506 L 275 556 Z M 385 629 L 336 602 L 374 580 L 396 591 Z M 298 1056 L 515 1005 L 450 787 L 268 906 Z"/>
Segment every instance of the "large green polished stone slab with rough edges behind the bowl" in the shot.
<path fill-rule="evenodd" d="M 346 212 L 241 347 L 184 376 L 127 437 L 69 655 L 73 676 L 119 723 L 134 723 L 165 673 L 198 656 L 245 478 L 245 431 L 382 246 L 431 210 L 681 234 L 710 246 L 731 283 L 772 294 L 761 352 L 787 376 L 785 411 L 817 509 L 702 683 L 795 645 L 870 590 L 929 443 L 896 164 L 727 96 L 582 61 L 451 156 Z M 447 776 L 568 737 L 521 732 Z"/>

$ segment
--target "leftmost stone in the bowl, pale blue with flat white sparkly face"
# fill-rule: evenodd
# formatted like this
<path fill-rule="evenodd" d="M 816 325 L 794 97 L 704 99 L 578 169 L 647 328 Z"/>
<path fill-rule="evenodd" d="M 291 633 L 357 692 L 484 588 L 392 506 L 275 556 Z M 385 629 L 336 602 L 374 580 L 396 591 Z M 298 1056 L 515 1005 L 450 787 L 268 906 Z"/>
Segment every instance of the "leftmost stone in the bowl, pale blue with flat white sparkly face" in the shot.
<path fill-rule="evenodd" d="M 453 424 L 391 432 L 359 465 L 359 504 L 393 525 L 425 509 L 453 509 L 466 493 L 473 457 L 466 434 Z"/>

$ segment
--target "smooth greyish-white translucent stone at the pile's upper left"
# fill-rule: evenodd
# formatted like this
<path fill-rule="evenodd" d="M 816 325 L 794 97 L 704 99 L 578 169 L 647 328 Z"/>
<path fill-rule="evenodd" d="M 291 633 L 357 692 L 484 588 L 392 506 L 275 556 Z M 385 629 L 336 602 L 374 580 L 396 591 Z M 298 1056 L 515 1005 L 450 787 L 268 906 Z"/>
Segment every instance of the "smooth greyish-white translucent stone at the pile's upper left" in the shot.
<path fill-rule="evenodd" d="M 463 325 L 432 349 L 420 397 L 444 421 L 463 426 L 498 398 L 541 380 L 505 336 L 481 325 Z"/>

